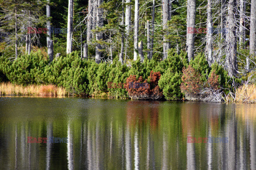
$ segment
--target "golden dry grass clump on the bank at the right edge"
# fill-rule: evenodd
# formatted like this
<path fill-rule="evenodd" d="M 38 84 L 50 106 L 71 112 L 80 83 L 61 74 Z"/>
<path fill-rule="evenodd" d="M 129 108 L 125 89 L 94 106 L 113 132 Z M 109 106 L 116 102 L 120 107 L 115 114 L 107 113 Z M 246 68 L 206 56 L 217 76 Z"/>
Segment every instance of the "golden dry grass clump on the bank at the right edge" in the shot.
<path fill-rule="evenodd" d="M 236 89 L 235 94 L 228 94 L 225 101 L 226 103 L 256 103 L 255 84 L 244 84 Z"/>

